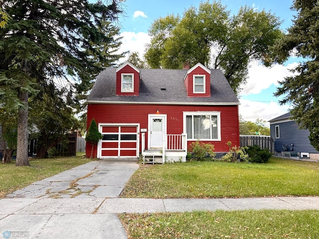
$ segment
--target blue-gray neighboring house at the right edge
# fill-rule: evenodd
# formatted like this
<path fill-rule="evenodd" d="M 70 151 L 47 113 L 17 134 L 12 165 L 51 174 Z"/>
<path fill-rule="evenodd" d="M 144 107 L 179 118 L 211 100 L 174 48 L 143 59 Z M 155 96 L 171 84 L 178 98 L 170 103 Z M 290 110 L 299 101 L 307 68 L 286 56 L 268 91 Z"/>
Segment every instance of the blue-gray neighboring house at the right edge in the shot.
<path fill-rule="evenodd" d="M 309 130 L 300 129 L 298 123 L 286 113 L 269 120 L 270 135 L 274 139 L 277 156 L 319 161 L 319 151 L 310 143 Z"/>

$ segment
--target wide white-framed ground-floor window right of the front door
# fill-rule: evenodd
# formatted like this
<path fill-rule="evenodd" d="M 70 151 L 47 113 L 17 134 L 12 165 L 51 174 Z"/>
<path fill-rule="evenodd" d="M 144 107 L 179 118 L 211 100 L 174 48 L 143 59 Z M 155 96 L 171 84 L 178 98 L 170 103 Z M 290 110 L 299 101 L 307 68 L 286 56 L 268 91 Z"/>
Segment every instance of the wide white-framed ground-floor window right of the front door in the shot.
<path fill-rule="evenodd" d="M 188 140 L 221 140 L 220 112 L 183 112 Z"/>

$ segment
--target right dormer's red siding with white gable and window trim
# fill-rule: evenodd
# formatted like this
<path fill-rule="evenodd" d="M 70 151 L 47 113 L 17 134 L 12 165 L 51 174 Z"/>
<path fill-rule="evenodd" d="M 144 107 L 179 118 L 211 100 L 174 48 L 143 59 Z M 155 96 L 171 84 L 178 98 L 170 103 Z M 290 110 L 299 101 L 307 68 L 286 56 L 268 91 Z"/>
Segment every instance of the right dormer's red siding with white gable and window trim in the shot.
<path fill-rule="evenodd" d="M 200 93 L 194 92 L 194 79 L 195 77 L 203 77 L 204 91 Z M 188 97 L 210 97 L 210 70 L 202 64 L 197 63 L 194 67 L 187 71 L 184 79 L 185 88 Z"/>

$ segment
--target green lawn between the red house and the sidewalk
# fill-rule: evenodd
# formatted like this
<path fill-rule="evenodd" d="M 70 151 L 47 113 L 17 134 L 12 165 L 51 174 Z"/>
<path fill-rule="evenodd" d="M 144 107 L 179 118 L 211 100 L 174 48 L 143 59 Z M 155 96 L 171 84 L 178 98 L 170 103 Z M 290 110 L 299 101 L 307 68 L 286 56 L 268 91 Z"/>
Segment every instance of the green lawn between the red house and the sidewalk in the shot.
<path fill-rule="evenodd" d="M 266 164 L 186 162 L 141 165 L 121 197 L 223 198 L 319 195 L 319 163 L 271 158 Z"/>

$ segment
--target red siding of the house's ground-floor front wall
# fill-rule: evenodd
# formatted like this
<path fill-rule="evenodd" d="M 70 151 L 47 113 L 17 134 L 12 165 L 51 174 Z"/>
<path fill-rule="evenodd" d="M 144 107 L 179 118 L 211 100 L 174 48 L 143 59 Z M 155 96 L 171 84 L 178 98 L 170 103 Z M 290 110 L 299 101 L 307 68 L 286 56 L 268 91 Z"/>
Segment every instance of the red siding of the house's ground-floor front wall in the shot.
<path fill-rule="evenodd" d="M 167 115 L 167 134 L 181 134 L 183 132 L 183 112 L 217 111 L 221 118 L 221 141 L 210 141 L 215 146 L 216 152 L 227 152 L 232 145 L 239 145 L 239 120 L 238 106 L 167 106 L 167 105 L 88 105 L 88 125 L 94 118 L 97 123 L 140 123 L 140 128 L 148 128 L 148 115 Z M 148 142 L 146 133 L 146 148 Z M 140 137 L 142 140 L 142 137 Z M 190 144 L 191 141 L 188 141 Z M 87 142 L 86 155 L 91 155 L 92 146 Z M 141 142 L 140 142 L 141 151 Z M 121 152 L 122 155 L 122 152 Z M 93 156 L 97 156 L 97 148 L 94 147 Z"/>

